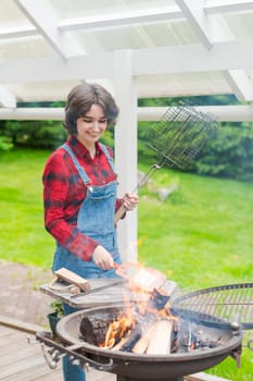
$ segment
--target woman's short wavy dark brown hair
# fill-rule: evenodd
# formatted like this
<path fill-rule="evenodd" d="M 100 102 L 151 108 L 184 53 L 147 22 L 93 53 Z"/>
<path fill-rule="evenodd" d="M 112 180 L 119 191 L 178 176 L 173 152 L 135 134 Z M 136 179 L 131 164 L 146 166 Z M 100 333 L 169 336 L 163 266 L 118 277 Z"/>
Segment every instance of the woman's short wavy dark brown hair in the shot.
<path fill-rule="evenodd" d="M 71 90 L 65 106 L 63 125 L 71 135 L 77 134 L 77 119 L 85 116 L 92 105 L 99 105 L 103 108 L 109 126 L 116 123 L 118 107 L 112 95 L 101 85 L 80 84 Z"/>

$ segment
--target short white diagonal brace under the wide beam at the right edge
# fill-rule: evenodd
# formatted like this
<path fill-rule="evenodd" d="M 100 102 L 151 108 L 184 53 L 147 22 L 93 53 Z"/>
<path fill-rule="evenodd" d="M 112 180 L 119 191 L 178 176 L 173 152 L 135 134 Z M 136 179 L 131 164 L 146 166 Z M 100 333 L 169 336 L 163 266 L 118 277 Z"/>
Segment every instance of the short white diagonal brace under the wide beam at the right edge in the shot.
<path fill-rule="evenodd" d="M 224 75 L 239 100 L 253 101 L 253 82 L 244 71 L 228 70 Z"/>

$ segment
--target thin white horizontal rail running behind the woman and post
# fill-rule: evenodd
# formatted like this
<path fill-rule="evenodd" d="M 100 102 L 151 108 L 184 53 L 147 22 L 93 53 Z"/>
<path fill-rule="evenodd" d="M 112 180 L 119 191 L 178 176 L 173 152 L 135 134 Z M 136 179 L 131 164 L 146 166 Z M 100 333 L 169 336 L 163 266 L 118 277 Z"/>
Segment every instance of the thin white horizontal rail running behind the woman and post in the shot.
<path fill-rule="evenodd" d="M 251 106 L 195 106 L 198 111 L 211 113 L 220 122 L 252 122 L 253 105 Z M 156 122 L 169 108 L 166 107 L 140 107 L 138 108 L 138 121 Z M 63 121 L 63 108 L 0 108 L 0 120 L 16 121 Z M 123 126 L 124 127 L 124 126 Z M 118 126 L 116 126 L 118 128 Z M 125 145 L 125 142 L 124 142 Z M 118 145 L 116 145 L 121 153 Z M 119 163 L 118 163 L 119 165 Z M 130 184 L 134 186 L 132 184 Z M 122 190 L 125 190 L 123 186 Z"/>

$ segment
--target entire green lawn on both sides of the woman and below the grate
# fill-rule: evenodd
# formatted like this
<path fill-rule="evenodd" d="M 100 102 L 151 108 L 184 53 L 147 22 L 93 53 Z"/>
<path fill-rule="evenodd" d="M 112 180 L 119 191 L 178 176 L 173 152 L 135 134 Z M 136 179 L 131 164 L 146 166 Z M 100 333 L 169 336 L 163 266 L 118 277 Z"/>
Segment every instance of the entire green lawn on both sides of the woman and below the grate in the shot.
<path fill-rule="evenodd" d="M 43 229 L 41 183 L 49 153 L 0 155 L 1 259 L 51 267 L 54 241 Z M 157 188 L 172 184 L 178 190 L 161 201 Z M 163 169 L 140 192 L 139 260 L 187 291 L 252 282 L 252 184 Z M 250 381 L 252 364 L 252 354 L 243 349 L 241 368 L 229 357 L 210 372 Z"/>

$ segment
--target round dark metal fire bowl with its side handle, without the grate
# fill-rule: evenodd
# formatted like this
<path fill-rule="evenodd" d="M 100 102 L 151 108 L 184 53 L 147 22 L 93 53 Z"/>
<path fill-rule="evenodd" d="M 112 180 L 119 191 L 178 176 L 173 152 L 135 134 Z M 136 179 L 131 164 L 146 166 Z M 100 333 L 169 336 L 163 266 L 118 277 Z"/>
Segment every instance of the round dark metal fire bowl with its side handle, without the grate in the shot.
<path fill-rule="evenodd" d="M 48 364 L 54 367 L 62 355 L 68 355 L 74 364 L 83 367 L 91 366 L 98 370 L 117 374 L 117 381 L 177 381 L 182 376 L 211 368 L 229 355 L 237 359 L 240 357 L 242 333 L 239 325 L 235 328 L 232 324 L 227 329 L 219 328 L 218 323 L 216 327 L 199 324 L 199 330 L 205 330 L 205 334 L 213 340 L 219 339 L 220 344 L 213 348 L 169 355 L 148 356 L 123 353 L 100 348 L 79 339 L 79 325 L 84 317 L 96 314 L 107 316 L 112 310 L 119 308 L 122 306 L 118 305 L 110 308 L 99 307 L 66 316 L 56 328 L 61 345 L 45 333 L 38 333 L 37 339 L 50 347 L 45 355 Z"/>

